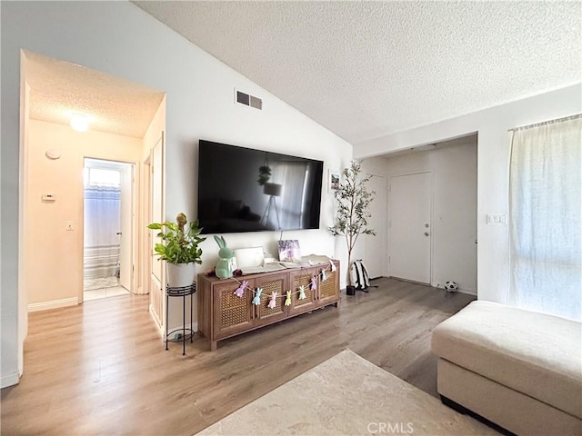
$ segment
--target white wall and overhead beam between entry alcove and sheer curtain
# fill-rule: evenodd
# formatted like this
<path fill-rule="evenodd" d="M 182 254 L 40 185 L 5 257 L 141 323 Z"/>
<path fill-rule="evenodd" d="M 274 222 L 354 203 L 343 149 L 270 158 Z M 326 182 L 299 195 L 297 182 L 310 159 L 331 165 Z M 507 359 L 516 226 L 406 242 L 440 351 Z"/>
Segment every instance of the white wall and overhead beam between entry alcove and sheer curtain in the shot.
<path fill-rule="evenodd" d="M 477 154 L 477 294 L 480 300 L 507 303 L 509 288 L 508 226 L 487 224 L 487 213 L 508 214 L 508 129 L 582 112 L 582 84 L 390 134 L 356 144 L 354 154 L 365 158 L 416 145 L 478 133 Z"/>

